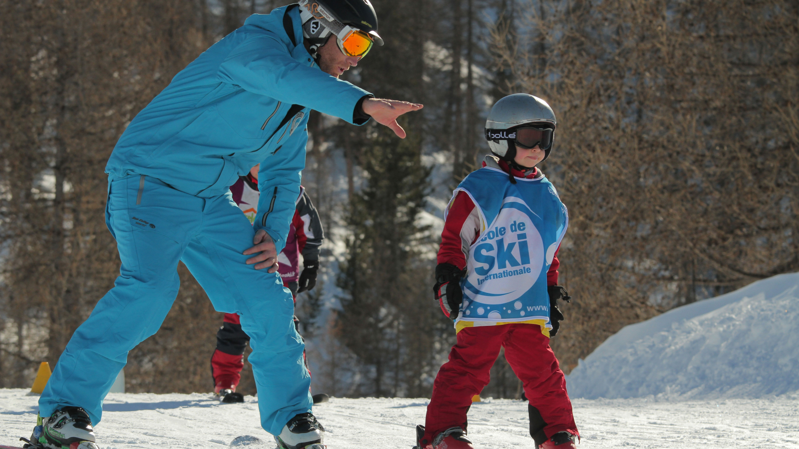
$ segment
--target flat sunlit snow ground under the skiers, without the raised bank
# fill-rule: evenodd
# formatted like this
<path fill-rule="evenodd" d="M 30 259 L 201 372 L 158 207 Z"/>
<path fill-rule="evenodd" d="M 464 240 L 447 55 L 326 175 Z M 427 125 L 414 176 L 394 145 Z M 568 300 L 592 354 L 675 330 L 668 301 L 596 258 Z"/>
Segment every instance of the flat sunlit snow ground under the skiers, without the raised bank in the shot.
<path fill-rule="evenodd" d="M 35 422 L 37 397 L 0 389 L 0 444 L 17 445 Z M 258 425 L 257 399 L 222 404 L 208 394 L 112 393 L 96 427 L 102 449 L 225 449 L 239 435 L 269 435 Z M 410 449 L 427 399 L 336 399 L 314 407 L 331 449 Z M 576 399 L 579 447 L 799 448 L 799 395 L 770 399 L 656 402 L 652 399 Z M 533 447 L 527 403 L 475 403 L 469 412 L 475 447 Z M 272 444 L 268 445 L 273 447 Z"/>

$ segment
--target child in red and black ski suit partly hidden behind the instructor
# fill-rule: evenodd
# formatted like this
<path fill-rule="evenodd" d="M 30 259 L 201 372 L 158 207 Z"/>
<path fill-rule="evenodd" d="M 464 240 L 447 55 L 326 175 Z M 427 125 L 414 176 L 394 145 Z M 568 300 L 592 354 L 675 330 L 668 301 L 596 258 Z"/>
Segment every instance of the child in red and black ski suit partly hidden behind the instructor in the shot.
<path fill-rule="evenodd" d="M 249 219 L 255 220 L 258 213 L 258 170 L 260 164 L 252 167 L 250 173 L 239 177 L 236 184 L 230 186 L 233 201 L 239 205 L 241 212 Z M 280 280 L 283 286 L 292 292 L 296 305 L 296 294 L 311 290 L 316 286 L 316 272 L 319 270 L 319 247 L 324 240 L 324 231 L 319 213 L 313 207 L 308 193 L 300 186 L 300 196 L 297 197 L 294 217 L 288 228 L 286 246 L 277 256 Z M 300 254 L 303 256 L 302 274 L 300 275 Z M 294 325 L 297 327 L 299 320 L 294 316 Z M 297 329 L 299 331 L 299 329 Z M 211 374 L 213 375 L 214 392 L 223 402 L 243 402 L 244 396 L 236 392 L 236 387 L 241 379 L 241 370 L 244 369 L 244 348 L 249 341 L 249 336 L 241 330 L 239 316 L 235 313 L 225 313 L 222 327 L 217 331 L 217 349 L 211 357 Z M 327 395 L 314 395 L 314 403 L 327 399 Z"/>

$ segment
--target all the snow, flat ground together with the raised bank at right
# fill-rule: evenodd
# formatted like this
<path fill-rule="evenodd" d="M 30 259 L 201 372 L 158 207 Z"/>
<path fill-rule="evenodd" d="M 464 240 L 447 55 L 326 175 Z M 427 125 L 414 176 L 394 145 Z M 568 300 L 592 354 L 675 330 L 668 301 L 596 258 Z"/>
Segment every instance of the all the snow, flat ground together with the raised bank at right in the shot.
<path fill-rule="evenodd" d="M 623 328 L 567 377 L 580 447 L 799 449 L 797 324 L 794 273 Z M 0 389 L 0 444 L 18 445 L 30 435 L 37 399 Z M 426 405 L 427 399 L 333 398 L 314 412 L 331 449 L 410 449 Z M 222 404 L 199 393 L 111 393 L 104 410 L 96 427 L 102 449 L 224 449 L 240 435 L 274 447 L 252 396 Z M 480 449 L 533 447 L 527 403 L 487 399 L 471 407 L 469 422 Z"/>

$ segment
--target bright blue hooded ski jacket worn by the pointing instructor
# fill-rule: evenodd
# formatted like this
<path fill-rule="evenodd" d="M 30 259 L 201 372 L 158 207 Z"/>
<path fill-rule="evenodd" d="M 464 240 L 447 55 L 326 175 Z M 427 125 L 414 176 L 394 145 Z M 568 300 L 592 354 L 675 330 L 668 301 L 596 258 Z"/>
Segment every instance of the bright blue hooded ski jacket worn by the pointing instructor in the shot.
<path fill-rule="evenodd" d="M 370 95 L 322 72 L 302 41 L 296 5 L 250 16 L 133 118 L 105 166 L 109 180 L 145 175 L 208 198 L 260 163 L 253 225 L 280 252 L 300 194 L 308 112 L 353 123 Z"/>

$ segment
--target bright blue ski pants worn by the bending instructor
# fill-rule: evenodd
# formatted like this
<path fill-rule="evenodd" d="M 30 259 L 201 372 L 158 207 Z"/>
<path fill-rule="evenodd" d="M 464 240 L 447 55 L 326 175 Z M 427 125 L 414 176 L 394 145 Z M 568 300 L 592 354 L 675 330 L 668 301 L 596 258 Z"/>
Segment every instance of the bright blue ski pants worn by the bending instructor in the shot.
<path fill-rule="evenodd" d="M 311 376 L 294 328 L 291 292 L 277 272 L 245 264 L 254 230 L 230 193 L 200 198 L 153 177 L 109 181 L 105 221 L 117 239 L 120 276 L 75 331 L 39 399 L 49 416 L 83 407 L 94 424 L 128 352 L 161 327 L 177 296 L 182 260 L 219 312 L 240 315 L 250 336 L 261 426 L 272 435 L 311 411 Z M 205 369 L 205 367 L 202 367 Z"/>

